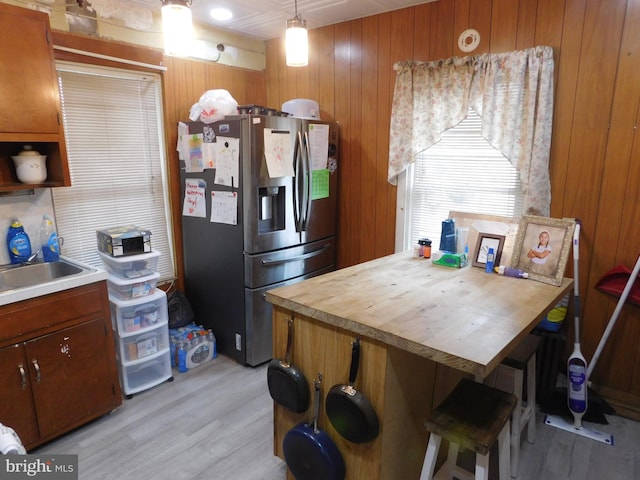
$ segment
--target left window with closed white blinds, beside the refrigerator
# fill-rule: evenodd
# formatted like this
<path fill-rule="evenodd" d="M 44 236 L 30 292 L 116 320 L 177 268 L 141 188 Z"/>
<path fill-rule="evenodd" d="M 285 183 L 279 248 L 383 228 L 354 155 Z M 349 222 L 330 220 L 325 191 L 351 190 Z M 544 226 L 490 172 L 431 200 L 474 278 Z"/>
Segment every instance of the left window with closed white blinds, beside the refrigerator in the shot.
<path fill-rule="evenodd" d="M 160 279 L 175 278 L 160 76 L 57 68 L 72 183 L 52 189 L 63 253 L 101 266 L 96 230 L 137 225 L 161 252 Z"/>

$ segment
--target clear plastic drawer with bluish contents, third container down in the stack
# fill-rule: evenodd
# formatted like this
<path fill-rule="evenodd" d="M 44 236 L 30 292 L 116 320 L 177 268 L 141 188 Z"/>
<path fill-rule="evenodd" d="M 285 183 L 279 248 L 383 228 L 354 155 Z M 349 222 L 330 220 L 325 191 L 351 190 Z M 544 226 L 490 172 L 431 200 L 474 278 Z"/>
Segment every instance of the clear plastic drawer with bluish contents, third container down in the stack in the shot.
<path fill-rule="evenodd" d="M 120 300 L 109 295 L 111 325 L 120 337 L 135 335 L 169 322 L 167 294 L 156 289 L 150 295 L 134 300 Z"/>

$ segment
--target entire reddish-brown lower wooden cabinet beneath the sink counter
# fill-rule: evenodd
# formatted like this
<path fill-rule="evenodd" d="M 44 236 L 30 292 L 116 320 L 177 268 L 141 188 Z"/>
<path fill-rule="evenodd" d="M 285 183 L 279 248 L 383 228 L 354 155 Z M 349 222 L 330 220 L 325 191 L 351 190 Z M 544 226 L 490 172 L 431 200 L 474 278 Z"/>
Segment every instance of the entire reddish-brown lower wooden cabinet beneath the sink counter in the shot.
<path fill-rule="evenodd" d="M 0 422 L 27 450 L 122 403 L 109 318 L 105 282 L 0 307 Z"/>

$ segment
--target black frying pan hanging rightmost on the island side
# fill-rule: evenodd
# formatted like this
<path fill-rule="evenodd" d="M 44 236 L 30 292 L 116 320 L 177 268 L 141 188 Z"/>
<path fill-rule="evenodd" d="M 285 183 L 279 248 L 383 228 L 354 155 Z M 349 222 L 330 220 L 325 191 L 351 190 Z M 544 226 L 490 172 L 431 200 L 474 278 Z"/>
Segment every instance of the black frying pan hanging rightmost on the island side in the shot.
<path fill-rule="evenodd" d="M 334 385 L 327 395 L 327 415 L 340 435 L 353 443 L 370 442 L 380 425 L 371 403 L 354 388 L 360 365 L 360 337 L 351 344 L 349 385 Z"/>

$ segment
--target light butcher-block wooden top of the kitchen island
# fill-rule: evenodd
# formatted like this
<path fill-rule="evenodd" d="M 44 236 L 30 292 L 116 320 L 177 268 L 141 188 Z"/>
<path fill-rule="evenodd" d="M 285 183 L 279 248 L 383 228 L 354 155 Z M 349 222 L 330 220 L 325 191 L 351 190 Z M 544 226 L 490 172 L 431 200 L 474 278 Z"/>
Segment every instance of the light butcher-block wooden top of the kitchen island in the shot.
<path fill-rule="evenodd" d="M 450 268 L 410 252 L 266 292 L 275 306 L 485 377 L 573 286 Z"/>

